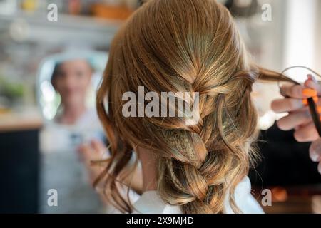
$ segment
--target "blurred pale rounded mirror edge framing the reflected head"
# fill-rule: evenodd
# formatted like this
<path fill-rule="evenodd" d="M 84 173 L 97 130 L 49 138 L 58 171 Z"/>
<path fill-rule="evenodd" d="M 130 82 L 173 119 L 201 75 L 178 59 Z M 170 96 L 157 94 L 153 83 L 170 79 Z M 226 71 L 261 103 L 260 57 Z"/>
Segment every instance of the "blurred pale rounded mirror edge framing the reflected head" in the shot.
<path fill-rule="evenodd" d="M 91 85 L 88 87 L 88 91 L 86 91 L 86 105 L 88 108 L 93 108 L 95 106 L 96 89 L 101 81 L 107 60 L 108 55 L 98 51 L 69 51 L 45 58 L 39 68 L 36 86 L 37 100 L 44 119 L 54 120 L 61 105 L 61 95 L 52 84 L 55 69 L 59 71 L 59 66 L 63 67 L 63 64 L 67 63 L 71 67 L 80 67 L 79 71 L 82 71 L 86 66 L 82 66 L 83 63 L 81 62 L 86 62 L 92 68 Z M 78 61 L 78 63 L 70 63 L 74 61 Z M 68 66 L 65 66 L 65 69 Z"/>

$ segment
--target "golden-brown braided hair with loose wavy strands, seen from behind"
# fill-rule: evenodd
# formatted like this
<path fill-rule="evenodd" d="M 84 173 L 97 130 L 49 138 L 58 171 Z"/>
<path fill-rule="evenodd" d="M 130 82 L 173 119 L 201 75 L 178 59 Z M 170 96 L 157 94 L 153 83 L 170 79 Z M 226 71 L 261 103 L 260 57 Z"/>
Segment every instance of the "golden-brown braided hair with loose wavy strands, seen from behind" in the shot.
<path fill-rule="evenodd" d="M 184 213 L 223 213 L 228 195 L 240 212 L 233 195 L 255 160 L 258 135 L 251 87 L 277 78 L 250 62 L 232 16 L 215 0 L 148 1 L 114 39 L 97 95 L 111 143 L 111 159 L 97 180 L 106 180 L 106 197 L 132 211 L 116 182 L 135 170 L 131 145 L 138 145 L 158 157 L 157 190 L 166 203 Z M 160 95 L 198 92 L 200 120 L 186 125 L 187 118 L 124 118 L 122 95 L 137 94 L 138 86 Z"/>

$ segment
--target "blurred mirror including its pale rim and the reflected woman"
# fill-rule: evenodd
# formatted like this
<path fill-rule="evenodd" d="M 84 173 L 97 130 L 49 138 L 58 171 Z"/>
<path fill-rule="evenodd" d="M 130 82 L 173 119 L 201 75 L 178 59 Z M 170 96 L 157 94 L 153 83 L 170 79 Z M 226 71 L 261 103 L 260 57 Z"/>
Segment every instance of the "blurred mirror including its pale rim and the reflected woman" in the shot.
<path fill-rule="evenodd" d="M 78 152 L 92 140 L 104 141 L 95 104 L 106 62 L 106 53 L 68 52 L 46 58 L 39 68 L 37 95 L 46 123 L 40 136 L 41 213 L 106 211 Z"/>

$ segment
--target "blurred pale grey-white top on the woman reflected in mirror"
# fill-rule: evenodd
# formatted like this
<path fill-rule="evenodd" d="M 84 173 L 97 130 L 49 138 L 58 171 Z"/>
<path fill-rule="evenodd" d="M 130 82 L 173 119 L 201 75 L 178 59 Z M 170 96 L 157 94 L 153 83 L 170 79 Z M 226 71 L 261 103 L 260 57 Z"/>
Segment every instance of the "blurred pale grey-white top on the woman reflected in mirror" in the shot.
<path fill-rule="evenodd" d="M 47 123 L 41 131 L 41 213 L 99 213 L 103 204 L 88 181 L 77 147 L 101 139 L 103 129 L 95 110 L 87 110 L 74 125 Z M 58 193 L 58 207 L 50 207 L 48 190 Z"/>

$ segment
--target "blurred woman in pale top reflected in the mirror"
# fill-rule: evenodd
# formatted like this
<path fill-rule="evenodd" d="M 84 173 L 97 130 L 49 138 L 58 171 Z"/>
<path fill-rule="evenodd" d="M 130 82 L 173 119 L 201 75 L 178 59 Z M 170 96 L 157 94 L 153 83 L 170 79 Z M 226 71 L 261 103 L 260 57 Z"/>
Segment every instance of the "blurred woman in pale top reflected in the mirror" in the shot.
<path fill-rule="evenodd" d="M 92 75 L 86 59 L 66 60 L 54 68 L 51 83 L 61 105 L 54 120 L 41 131 L 41 212 L 98 213 L 104 207 L 77 152 L 83 143 L 104 139 L 96 110 L 86 106 Z M 47 204 L 46 193 L 51 188 L 58 192 L 58 207 Z"/>

